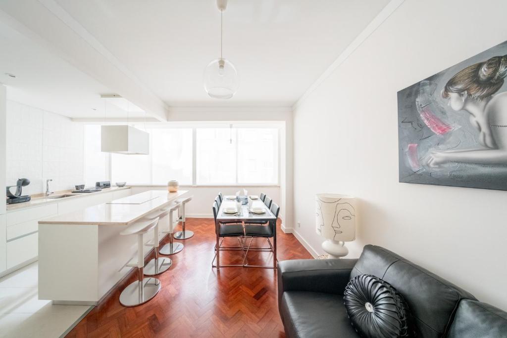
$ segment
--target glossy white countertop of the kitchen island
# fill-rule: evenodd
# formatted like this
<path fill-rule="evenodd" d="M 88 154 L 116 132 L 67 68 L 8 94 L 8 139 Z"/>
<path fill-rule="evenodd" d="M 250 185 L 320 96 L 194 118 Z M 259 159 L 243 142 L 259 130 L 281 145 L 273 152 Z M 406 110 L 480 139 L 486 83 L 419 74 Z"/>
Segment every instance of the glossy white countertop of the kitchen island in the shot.
<path fill-rule="evenodd" d="M 39 224 L 128 225 L 150 214 L 153 210 L 171 204 L 176 198 L 187 192 L 187 190 L 177 192 L 145 191 L 90 206 L 74 213 L 44 219 L 44 221 L 39 221 Z"/>

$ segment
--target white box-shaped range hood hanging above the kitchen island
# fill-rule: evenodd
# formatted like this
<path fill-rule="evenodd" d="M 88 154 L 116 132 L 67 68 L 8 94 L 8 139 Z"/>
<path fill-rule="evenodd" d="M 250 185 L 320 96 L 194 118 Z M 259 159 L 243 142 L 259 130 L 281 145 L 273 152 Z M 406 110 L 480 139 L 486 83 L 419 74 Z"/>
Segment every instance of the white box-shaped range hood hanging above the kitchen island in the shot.
<path fill-rule="evenodd" d="M 126 155 L 150 153 L 150 134 L 130 125 L 102 125 L 100 139 L 102 152 Z"/>

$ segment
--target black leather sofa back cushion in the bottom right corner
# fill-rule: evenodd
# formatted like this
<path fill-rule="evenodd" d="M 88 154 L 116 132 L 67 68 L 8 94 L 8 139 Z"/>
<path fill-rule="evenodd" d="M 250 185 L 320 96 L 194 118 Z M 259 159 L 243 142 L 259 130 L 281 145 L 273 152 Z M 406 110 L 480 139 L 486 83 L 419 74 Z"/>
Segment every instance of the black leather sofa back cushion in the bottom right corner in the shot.
<path fill-rule="evenodd" d="M 507 312 L 486 303 L 463 300 L 459 303 L 448 337 L 507 337 Z"/>

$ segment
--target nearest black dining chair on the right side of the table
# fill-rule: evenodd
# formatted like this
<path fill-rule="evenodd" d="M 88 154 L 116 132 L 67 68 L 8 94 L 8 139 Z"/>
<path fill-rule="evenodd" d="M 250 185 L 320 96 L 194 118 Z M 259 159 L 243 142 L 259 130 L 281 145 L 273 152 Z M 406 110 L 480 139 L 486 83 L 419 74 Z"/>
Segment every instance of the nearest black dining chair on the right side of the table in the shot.
<path fill-rule="evenodd" d="M 254 267 L 254 268 L 270 268 L 276 269 L 276 221 L 278 220 L 278 214 L 280 212 L 280 207 L 276 203 L 271 203 L 271 213 L 276 217 L 274 221 L 269 221 L 267 225 L 262 224 L 245 224 L 245 244 L 248 237 L 250 237 L 250 242 L 246 247 L 246 253 L 243 258 L 243 265 L 246 267 Z M 253 238 L 266 238 L 268 240 L 269 246 L 266 247 L 253 247 L 250 248 Z M 270 238 L 273 238 L 273 244 L 271 244 Z M 248 251 L 270 251 L 273 252 L 273 265 L 249 265 L 248 264 Z M 246 261 L 246 263 L 245 263 Z"/>

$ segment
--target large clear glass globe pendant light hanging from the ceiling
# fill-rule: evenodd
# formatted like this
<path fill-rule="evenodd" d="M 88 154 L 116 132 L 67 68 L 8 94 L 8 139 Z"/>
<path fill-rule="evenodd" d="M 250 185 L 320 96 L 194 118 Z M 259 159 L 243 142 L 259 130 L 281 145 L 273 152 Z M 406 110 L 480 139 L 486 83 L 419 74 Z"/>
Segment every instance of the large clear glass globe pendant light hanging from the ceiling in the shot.
<path fill-rule="evenodd" d="M 204 70 L 204 89 L 214 99 L 230 99 L 239 87 L 238 72 L 234 65 L 223 57 L 224 12 L 227 0 L 216 0 L 220 11 L 220 58 L 211 61 Z"/>

